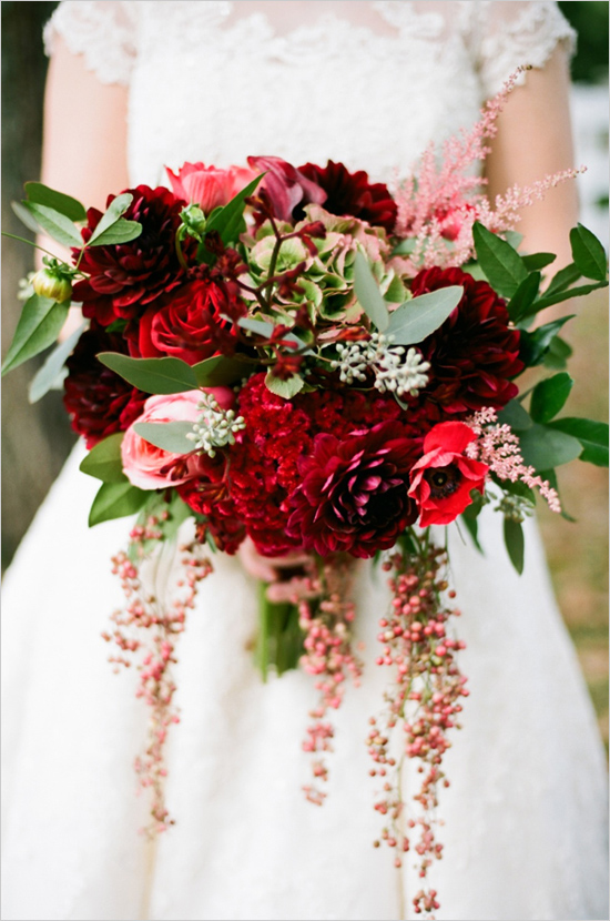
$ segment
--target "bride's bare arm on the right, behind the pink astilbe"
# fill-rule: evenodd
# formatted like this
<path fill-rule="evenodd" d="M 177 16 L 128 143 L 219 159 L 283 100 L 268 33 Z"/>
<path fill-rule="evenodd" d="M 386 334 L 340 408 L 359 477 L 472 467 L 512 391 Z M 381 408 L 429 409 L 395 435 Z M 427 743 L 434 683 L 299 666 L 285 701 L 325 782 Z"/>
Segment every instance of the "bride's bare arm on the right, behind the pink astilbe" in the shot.
<path fill-rule="evenodd" d="M 568 55 L 559 44 L 545 67 L 527 73 L 498 119 L 498 134 L 486 162 L 491 199 L 510 186 L 530 185 L 573 166 Z M 523 209 L 517 227 L 528 252 L 557 253 L 553 272 L 571 262 L 569 231 L 578 220 L 576 180 L 548 191 Z"/>

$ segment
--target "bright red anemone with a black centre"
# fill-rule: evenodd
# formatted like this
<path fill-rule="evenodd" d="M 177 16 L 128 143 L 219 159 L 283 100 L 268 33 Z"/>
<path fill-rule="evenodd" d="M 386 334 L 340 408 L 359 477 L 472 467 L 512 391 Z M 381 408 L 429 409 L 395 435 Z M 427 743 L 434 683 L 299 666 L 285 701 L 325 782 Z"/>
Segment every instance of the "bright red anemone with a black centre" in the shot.
<path fill-rule="evenodd" d="M 409 496 L 417 503 L 421 527 L 448 525 L 470 505 L 470 492 L 482 492 L 489 467 L 465 457 L 476 437 L 462 422 L 443 422 L 426 435 L 424 457 L 414 465 Z"/>

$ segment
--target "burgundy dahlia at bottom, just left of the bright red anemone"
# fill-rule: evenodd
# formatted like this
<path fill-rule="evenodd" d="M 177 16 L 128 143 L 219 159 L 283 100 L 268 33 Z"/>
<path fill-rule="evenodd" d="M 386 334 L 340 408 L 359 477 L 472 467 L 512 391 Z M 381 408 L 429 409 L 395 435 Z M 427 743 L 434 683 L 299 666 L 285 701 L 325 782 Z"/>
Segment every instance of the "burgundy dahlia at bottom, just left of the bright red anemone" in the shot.
<path fill-rule="evenodd" d="M 321 556 L 370 557 L 392 547 L 417 518 L 407 493 L 416 451 L 393 422 L 344 439 L 316 435 L 312 455 L 298 465 L 303 483 L 291 498 L 288 534 Z"/>

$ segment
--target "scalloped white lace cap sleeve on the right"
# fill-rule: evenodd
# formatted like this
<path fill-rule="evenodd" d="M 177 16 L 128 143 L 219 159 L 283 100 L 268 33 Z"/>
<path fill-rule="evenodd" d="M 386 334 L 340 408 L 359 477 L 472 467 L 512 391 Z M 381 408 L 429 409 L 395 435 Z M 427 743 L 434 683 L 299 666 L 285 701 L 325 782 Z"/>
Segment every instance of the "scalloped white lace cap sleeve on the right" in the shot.
<path fill-rule="evenodd" d="M 576 47 L 576 32 L 553 2 L 469 3 L 476 63 L 484 95 L 489 99 L 519 65 L 541 68 L 559 42 L 569 53 Z"/>

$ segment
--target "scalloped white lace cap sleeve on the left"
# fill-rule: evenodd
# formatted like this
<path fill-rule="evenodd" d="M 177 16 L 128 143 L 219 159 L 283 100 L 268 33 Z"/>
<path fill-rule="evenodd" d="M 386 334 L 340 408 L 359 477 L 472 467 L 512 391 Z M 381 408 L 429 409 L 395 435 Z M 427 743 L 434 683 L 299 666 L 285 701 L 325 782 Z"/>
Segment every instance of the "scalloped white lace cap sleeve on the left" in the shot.
<path fill-rule="evenodd" d="M 62 0 L 44 27 L 47 53 L 61 36 L 73 54 L 84 54 L 88 70 L 102 83 L 126 85 L 136 55 L 130 8 L 116 0 Z"/>

